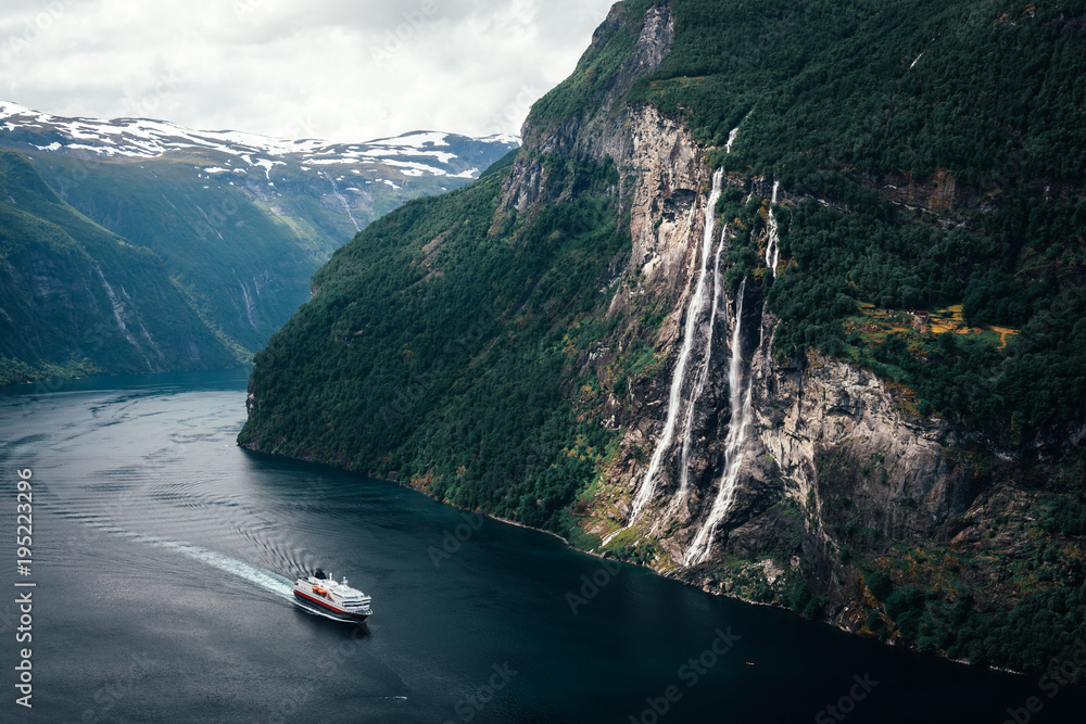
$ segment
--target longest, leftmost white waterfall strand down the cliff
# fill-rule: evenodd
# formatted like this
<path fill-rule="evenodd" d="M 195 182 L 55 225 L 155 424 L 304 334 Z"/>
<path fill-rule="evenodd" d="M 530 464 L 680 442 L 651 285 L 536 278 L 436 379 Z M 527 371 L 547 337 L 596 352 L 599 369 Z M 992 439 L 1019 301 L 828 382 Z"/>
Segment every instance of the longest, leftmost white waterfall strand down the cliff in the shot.
<path fill-rule="evenodd" d="M 720 199 L 720 185 L 723 181 L 723 169 L 718 169 L 712 175 L 712 192 L 709 194 L 709 200 L 705 205 L 702 272 L 698 275 L 697 287 L 694 288 L 694 296 L 691 297 L 690 308 L 686 310 L 686 327 L 683 333 L 682 348 L 679 352 L 679 361 L 675 363 L 675 371 L 671 377 L 671 394 L 668 398 L 668 416 L 664 423 L 664 434 L 660 435 L 659 441 L 656 443 L 656 450 L 653 453 L 648 471 L 645 473 L 645 479 L 641 482 L 641 487 L 633 498 L 633 512 L 630 513 L 630 521 L 627 523 L 627 528 L 633 524 L 648 501 L 653 499 L 653 493 L 656 490 L 656 473 L 660 468 L 665 453 L 671 446 L 672 437 L 674 437 L 675 420 L 679 417 L 679 408 L 682 406 L 682 385 L 686 377 L 686 364 L 690 361 L 691 348 L 694 345 L 694 332 L 697 319 L 702 316 L 702 307 L 705 303 L 705 279 L 708 276 L 709 254 L 712 252 L 717 200 Z M 610 537 L 613 536 L 608 536 L 606 541 L 609 541 Z"/>

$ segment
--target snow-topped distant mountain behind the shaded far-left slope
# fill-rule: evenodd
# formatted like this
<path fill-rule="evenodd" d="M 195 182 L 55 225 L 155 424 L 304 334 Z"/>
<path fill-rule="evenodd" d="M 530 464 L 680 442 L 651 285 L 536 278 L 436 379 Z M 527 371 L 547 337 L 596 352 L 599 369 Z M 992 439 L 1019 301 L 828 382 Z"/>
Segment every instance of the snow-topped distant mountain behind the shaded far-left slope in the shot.
<path fill-rule="evenodd" d="M 0 103 L 0 145 L 18 150 L 88 219 L 152 251 L 173 293 L 198 315 L 200 333 L 211 330 L 237 360 L 308 299 L 313 271 L 336 247 L 407 199 L 468 182 L 516 139 L 427 131 L 328 144 L 146 119 L 62 118 Z M 58 269 L 55 283 L 75 283 L 67 271 Z M 61 347 L 37 348 L 52 365 L 37 370 L 23 351 L 30 368 L 18 377 L 56 373 L 55 360 L 72 351 Z"/>

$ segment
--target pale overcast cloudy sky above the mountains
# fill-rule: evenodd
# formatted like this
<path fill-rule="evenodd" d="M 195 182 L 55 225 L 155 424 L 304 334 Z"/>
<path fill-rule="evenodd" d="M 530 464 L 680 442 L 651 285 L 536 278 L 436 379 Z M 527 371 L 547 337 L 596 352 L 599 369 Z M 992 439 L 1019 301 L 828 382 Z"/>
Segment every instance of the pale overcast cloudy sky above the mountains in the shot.
<path fill-rule="evenodd" d="M 517 132 L 613 0 L 3 0 L 0 100 L 362 141 Z"/>

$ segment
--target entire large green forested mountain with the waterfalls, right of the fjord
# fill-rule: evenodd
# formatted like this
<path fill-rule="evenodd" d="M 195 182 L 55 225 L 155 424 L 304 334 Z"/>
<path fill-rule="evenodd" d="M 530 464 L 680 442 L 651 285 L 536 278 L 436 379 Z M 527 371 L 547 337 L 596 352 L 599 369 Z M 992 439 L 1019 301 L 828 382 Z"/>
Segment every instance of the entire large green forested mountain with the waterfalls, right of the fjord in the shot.
<path fill-rule="evenodd" d="M 1081 1 L 618 3 L 515 158 L 318 272 L 239 440 L 1043 671 L 1086 636 L 1084 72 Z"/>

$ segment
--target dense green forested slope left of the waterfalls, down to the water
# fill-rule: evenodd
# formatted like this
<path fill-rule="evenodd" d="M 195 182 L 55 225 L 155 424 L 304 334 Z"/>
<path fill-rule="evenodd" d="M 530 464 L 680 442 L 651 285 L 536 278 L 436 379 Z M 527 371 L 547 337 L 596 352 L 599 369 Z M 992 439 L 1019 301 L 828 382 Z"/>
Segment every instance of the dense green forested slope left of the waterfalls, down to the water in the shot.
<path fill-rule="evenodd" d="M 560 158 L 552 170 L 583 189 L 576 201 L 495 220 L 512 160 L 408 203 L 332 256 L 313 301 L 256 356 L 242 444 L 318 452 L 568 532 L 565 509 L 610 433 L 578 421 L 564 378 L 605 331 L 591 316 L 596 283 L 630 239 L 599 192 L 614 166 Z"/>

